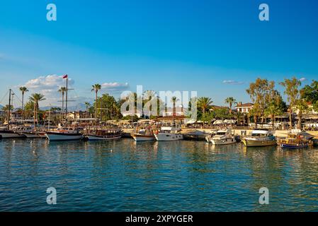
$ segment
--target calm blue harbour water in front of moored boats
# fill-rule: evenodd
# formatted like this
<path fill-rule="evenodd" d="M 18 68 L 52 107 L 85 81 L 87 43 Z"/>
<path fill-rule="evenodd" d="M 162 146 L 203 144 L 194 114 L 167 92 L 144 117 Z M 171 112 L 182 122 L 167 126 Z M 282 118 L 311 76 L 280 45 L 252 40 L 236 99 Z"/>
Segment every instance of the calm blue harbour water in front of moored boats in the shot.
<path fill-rule="evenodd" d="M 48 187 L 57 189 L 55 206 Z M 259 204 L 261 187 L 269 205 Z M 318 149 L 0 141 L 0 211 L 296 210 L 318 210 Z"/>

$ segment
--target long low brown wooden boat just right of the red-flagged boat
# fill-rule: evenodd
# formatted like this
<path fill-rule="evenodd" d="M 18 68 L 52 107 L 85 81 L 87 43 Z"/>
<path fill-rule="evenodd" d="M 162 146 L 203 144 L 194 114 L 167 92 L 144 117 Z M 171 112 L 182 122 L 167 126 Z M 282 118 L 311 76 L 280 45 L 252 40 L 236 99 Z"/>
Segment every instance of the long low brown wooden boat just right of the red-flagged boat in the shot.
<path fill-rule="evenodd" d="M 90 129 L 84 130 L 84 137 L 89 141 L 115 140 L 121 138 L 121 129 Z"/>

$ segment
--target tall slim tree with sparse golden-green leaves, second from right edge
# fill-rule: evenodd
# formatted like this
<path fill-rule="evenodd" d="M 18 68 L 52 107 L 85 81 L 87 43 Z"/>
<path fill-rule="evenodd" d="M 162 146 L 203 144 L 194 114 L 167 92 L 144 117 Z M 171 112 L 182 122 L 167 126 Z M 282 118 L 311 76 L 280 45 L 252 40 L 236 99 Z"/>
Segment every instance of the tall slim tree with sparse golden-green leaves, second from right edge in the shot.
<path fill-rule="evenodd" d="M 293 107 L 297 104 L 297 101 L 300 99 L 299 87 L 302 83 L 295 77 L 292 79 L 285 78 L 285 81 L 281 82 L 280 85 L 283 85 L 285 88 L 285 95 L 287 95 L 287 100 L 289 103 L 289 120 L 290 120 L 290 128 L 293 127 Z"/>

